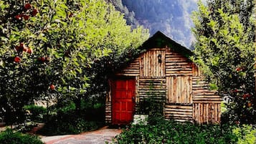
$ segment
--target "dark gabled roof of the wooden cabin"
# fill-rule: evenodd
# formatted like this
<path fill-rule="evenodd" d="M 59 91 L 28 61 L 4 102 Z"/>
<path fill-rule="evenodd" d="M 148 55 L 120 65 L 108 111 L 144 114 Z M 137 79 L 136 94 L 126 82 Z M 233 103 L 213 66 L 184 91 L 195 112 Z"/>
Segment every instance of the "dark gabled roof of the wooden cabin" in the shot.
<path fill-rule="evenodd" d="M 153 34 L 153 36 L 146 40 L 146 42 L 144 42 L 141 47 L 139 47 L 139 49 L 164 48 L 166 46 L 171 48 L 171 50 L 174 52 L 178 52 L 187 58 L 189 58 L 191 55 L 194 55 L 190 49 L 187 49 L 169 37 L 166 37 L 166 35 L 160 31 L 156 32 L 156 34 Z"/>

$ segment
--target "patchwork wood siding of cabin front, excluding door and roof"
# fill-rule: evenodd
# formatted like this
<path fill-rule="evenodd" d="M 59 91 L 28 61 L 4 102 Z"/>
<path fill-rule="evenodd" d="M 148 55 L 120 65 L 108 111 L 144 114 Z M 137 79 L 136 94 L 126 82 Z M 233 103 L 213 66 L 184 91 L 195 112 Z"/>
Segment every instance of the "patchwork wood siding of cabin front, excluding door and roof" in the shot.
<path fill-rule="evenodd" d="M 148 49 L 115 75 L 136 78 L 136 110 L 140 100 L 151 96 L 165 100 L 166 120 L 220 122 L 222 98 L 209 90 L 196 64 L 171 48 Z M 111 121 L 110 101 L 106 102 L 106 122 Z"/>

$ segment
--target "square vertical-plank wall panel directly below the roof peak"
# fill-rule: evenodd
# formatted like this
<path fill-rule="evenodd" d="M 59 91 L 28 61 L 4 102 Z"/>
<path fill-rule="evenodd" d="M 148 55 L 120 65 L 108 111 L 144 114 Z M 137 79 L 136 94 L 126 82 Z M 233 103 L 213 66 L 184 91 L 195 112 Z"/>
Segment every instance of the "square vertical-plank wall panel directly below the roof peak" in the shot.
<path fill-rule="evenodd" d="M 150 49 L 141 54 L 140 77 L 164 77 L 165 49 Z"/>

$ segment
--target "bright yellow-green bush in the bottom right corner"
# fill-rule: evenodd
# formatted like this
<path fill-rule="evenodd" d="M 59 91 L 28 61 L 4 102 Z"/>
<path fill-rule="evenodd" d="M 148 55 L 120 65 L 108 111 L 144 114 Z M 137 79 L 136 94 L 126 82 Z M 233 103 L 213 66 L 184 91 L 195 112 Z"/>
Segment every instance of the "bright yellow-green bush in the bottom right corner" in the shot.
<path fill-rule="evenodd" d="M 234 128 L 232 130 L 234 135 L 237 135 L 238 144 L 248 143 L 253 144 L 255 143 L 255 134 L 256 130 L 253 130 L 252 126 L 250 125 L 241 125 L 240 127 Z"/>

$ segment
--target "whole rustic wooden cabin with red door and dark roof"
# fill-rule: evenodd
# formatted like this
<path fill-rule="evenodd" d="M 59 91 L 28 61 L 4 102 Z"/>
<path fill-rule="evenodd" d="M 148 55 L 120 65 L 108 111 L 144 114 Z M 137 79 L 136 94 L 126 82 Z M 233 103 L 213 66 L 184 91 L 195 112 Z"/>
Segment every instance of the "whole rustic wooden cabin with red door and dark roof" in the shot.
<path fill-rule="evenodd" d="M 164 100 L 166 120 L 219 123 L 222 98 L 209 90 L 202 71 L 191 62 L 193 54 L 156 32 L 140 47 L 144 52 L 109 78 L 105 122 L 129 124 L 146 97 Z"/>

